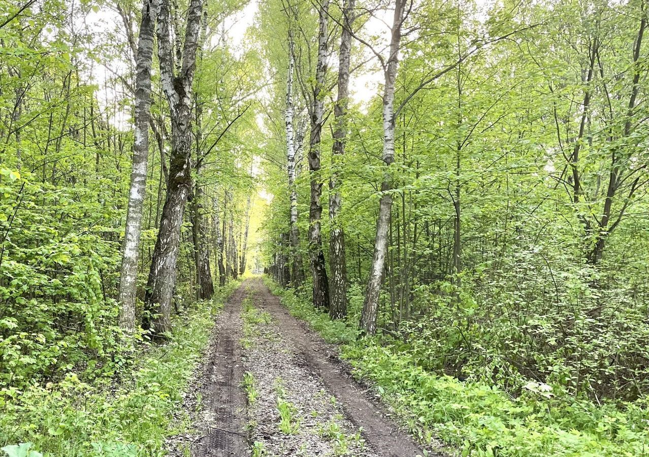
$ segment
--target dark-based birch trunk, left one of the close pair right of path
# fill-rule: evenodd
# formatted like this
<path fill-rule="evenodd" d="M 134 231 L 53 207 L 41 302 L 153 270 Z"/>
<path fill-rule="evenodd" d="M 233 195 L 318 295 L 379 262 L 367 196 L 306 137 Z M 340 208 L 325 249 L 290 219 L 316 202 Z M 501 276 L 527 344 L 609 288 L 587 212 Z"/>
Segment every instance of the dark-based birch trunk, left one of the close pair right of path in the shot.
<path fill-rule="evenodd" d="M 315 85 L 312 93 L 311 136 L 309 142 L 309 174 L 311 178 L 311 204 L 309 208 L 309 262 L 313 276 L 313 306 L 329 309 L 329 282 L 324 265 L 320 225 L 323 207 L 320 203 L 323 184 L 320 179 L 321 133 L 324 122 L 324 77 L 327 58 L 328 0 L 319 8 L 318 57 L 315 68 Z"/>

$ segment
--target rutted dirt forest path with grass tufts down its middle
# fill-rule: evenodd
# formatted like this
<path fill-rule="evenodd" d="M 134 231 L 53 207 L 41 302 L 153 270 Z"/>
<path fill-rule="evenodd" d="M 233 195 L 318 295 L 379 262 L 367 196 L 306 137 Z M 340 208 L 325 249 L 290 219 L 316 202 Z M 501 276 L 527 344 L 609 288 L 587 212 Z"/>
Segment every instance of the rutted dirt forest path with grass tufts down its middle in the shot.
<path fill-rule="evenodd" d="M 228 300 L 202 371 L 194 457 L 423 455 L 259 278 Z"/>

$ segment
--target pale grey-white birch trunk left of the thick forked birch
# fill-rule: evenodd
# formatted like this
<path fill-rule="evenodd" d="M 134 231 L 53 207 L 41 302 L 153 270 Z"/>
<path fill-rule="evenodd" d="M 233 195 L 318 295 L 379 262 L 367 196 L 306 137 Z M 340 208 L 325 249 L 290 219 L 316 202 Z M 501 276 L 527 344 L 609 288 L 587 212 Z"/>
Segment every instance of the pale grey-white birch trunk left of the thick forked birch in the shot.
<path fill-rule="evenodd" d="M 130 173 L 129 208 L 126 216 L 124 249 L 119 280 L 119 327 L 126 332 L 135 328 L 136 294 L 142 207 L 147 191 L 147 159 L 149 157 L 149 119 L 151 117 L 151 62 L 153 32 L 158 14 L 158 0 L 144 0 L 135 81 L 135 140 Z"/>

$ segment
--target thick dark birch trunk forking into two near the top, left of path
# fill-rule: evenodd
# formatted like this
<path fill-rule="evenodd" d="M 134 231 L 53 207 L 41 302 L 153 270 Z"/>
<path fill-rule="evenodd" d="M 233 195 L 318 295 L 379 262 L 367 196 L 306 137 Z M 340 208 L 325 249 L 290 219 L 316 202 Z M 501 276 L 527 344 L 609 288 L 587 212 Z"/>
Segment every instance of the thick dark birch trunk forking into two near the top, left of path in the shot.
<path fill-rule="evenodd" d="M 191 189 L 191 87 L 196 68 L 202 0 L 190 1 L 178 75 L 174 74 L 169 8 L 169 0 L 162 0 L 156 28 L 160 83 L 171 110 L 169 180 L 145 295 L 149 313 L 145 325 L 158 336 L 171 331 L 180 226 Z"/>

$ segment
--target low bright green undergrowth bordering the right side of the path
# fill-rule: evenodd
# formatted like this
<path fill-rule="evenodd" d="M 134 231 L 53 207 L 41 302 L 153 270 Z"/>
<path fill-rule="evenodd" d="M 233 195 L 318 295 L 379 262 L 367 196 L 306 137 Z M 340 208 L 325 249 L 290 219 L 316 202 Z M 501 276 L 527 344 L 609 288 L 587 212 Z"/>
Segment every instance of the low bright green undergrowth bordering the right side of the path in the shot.
<path fill-rule="evenodd" d="M 646 401 L 606 402 L 554 395 L 530 382 L 513 396 L 485 382 L 427 371 L 403 341 L 389 336 L 358 338 L 360 297 L 352 317 L 330 321 L 308 301 L 270 281 L 292 315 L 304 319 L 324 340 L 341 344 L 354 375 L 373 384 L 398 418 L 422 441 L 433 437 L 463 457 L 642 457 L 649 455 Z M 549 387 L 549 386 L 548 386 Z"/>

